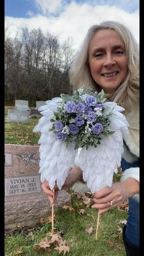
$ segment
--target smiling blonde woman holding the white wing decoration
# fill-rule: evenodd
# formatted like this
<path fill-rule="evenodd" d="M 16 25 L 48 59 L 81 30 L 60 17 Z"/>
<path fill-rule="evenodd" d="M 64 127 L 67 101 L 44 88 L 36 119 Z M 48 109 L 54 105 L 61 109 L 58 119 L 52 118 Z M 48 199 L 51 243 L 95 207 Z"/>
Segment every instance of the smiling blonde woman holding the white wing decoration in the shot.
<path fill-rule="evenodd" d="M 121 23 L 106 21 L 90 27 L 70 70 L 74 89 L 93 88 L 109 93 L 125 111 L 129 134 L 124 135 L 121 181 L 94 194 L 92 208 L 99 213 L 129 199 L 129 217 L 123 229 L 126 255 L 139 255 L 139 49 L 129 29 Z M 70 170 L 63 189 L 82 179 L 81 169 Z M 48 181 L 42 185 L 50 202 L 54 194 Z M 55 186 L 57 189 L 57 186 Z"/>

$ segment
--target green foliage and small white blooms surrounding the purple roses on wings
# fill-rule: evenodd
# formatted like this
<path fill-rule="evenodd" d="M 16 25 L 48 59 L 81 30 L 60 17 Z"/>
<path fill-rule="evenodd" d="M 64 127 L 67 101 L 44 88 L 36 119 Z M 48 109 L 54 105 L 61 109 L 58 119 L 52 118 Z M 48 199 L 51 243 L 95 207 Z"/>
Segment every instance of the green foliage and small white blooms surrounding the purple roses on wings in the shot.
<path fill-rule="evenodd" d="M 104 90 L 101 90 L 101 92 L 97 93 L 95 92 L 92 87 L 89 87 L 88 89 L 82 89 L 79 88 L 78 90 L 73 92 L 73 95 L 68 95 L 62 93 L 61 95 L 61 106 L 57 108 L 57 111 L 54 111 L 54 117 L 52 117 L 51 122 L 59 121 L 63 128 L 59 131 L 59 134 L 64 135 L 63 141 L 66 142 L 66 146 L 68 147 L 69 142 L 75 142 L 75 149 L 80 147 L 85 147 L 88 149 L 88 146 L 95 146 L 97 147 L 98 144 L 101 142 L 101 134 L 104 136 L 109 136 L 110 134 L 113 134 L 113 131 L 109 130 L 109 124 L 110 124 L 110 117 L 112 116 L 112 110 L 110 108 L 97 108 L 96 104 L 104 103 L 107 99 L 107 94 L 104 93 Z M 82 103 L 84 108 L 87 109 L 87 104 L 85 103 L 85 100 L 87 100 L 87 96 L 92 96 L 92 98 L 95 98 L 95 104 L 89 103 L 90 111 L 84 110 L 84 111 L 69 111 L 67 108 L 65 108 L 65 104 L 75 104 L 74 108 L 76 107 L 77 103 Z M 92 122 L 88 122 L 88 113 L 93 112 L 96 116 L 96 120 Z M 97 112 L 98 111 L 98 112 Z M 78 126 L 78 131 L 76 134 L 73 134 L 69 131 L 69 125 L 73 124 L 77 126 L 76 124 L 76 118 L 79 117 L 82 119 L 81 125 Z M 98 134 L 93 132 L 93 126 L 101 125 L 103 130 L 99 131 Z M 51 126 L 49 131 L 53 131 L 54 133 L 58 133 L 55 130 L 54 125 Z M 63 136 L 62 136 L 63 138 Z"/>

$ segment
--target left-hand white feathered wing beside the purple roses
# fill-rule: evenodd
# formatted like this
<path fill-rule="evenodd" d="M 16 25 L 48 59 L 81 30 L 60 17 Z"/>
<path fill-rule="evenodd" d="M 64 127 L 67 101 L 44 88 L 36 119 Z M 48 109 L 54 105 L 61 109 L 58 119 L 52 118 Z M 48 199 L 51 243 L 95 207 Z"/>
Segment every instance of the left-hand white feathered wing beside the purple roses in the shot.
<path fill-rule="evenodd" d="M 74 150 L 75 143 L 72 142 L 69 147 L 57 140 L 56 134 L 49 131 L 51 128 L 50 119 L 54 115 L 54 111 L 60 106 L 61 98 L 53 98 L 46 101 L 45 106 L 41 106 L 38 111 L 43 115 L 35 126 L 34 132 L 40 131 L 41 136 L 38 141 L 40 144 L 40 180 L 49 181 L 49 187 L 52 190 L 55 183 L 59 189 L 62 188 L 65 178 L 68 175 L 68 169 L 74 166 L 74 158 L 76 150 Z"/>

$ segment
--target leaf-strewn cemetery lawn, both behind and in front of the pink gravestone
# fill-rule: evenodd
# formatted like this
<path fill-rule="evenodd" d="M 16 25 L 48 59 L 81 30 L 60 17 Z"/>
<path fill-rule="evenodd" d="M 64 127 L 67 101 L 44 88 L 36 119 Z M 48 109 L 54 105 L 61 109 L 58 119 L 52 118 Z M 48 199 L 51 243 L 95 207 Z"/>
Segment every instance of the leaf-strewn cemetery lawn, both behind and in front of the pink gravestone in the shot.
<path fill-rule="evenodd" d="M 29 119 L 29 123 L 9 123 L 7 122 L 7 109 L 5 107 L 5 143 L 38 145 L 40 133 L 33 133 L 38 119 Z M 118 175 L 114 175 L 114 181 L 120 180 Z M 125 256 L 122 239 L 122 228 L 128 213 L 113 208 L 100 216 L 98 229 L 98 240 L 95 241 L 96 222 L 98 211 L 91 208 L 81 198 L 79 199 L 70 189 L 71 208 L 60 208 L 55 214 L 54 233 L 61 232 L 60 236 L 70 251 L 66 255 L 73 256 Z M 92 195 L 91 195 L 92 196 Z M 87 194 L 88 198 L 90 194 Z M 92 202 L 91 202 L 92 203 Z M 85 229 L 92 233 L 86 233 Z M 93 228 L 93 231 L 92 231 Z M 39 256 L 39 255 L 59 255 L 56 251 L 56 242 L 48 245 L 46 241 L 51 237 L 51 222 L 49 218 L 40 219 L 34 227 L 16 227 L 13 230 L 5 230 L 5 256 Z M 41 243 L 43 242 L 43 243 Z M 43 246 L 41 246 L 43 244 Z M 63 252 L 60 253 L 63 255 Z"/>

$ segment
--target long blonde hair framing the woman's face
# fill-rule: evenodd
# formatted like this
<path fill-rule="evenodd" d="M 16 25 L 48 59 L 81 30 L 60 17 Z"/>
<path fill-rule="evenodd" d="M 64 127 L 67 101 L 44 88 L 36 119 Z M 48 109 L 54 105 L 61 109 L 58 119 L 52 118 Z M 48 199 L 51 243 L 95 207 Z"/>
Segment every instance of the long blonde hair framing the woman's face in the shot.
<path fill-rule="evenodd" d="M 101 29 L 113 29 L 120 35 L 124 42 L 126 57 L 128 61 L 128 75 L 125 81 L 117 88 L 113 95 L 109 95 L 109 101 L 117 102 L 127 111 L 132 106 L 139 104 L 139 47 L 128 27 L 116 21 L 104 21 L 88 29 L 87 35 L 82 43 L 81 49 L 76 54 L 70 68 L 70 83 L 76 90 L 79 87 L 93 87 L 97 92 L 101 88 L 93 80 L 88 64 L 88 46 L 96 32 Z"/>

